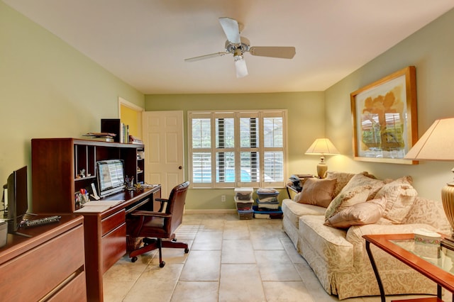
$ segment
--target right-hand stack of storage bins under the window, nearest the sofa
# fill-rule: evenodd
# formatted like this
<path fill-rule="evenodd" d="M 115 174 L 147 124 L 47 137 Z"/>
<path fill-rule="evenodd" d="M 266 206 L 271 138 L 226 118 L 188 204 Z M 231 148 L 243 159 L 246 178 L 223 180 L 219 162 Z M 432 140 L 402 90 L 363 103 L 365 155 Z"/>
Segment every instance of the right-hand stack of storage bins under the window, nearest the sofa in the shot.
<path fill-rule="evenodd" d="M 258 189 L 257 206 L 253 207 L 255 218 L 282 218 L 282 209 L 279 206 L 276 189 Z"/>

